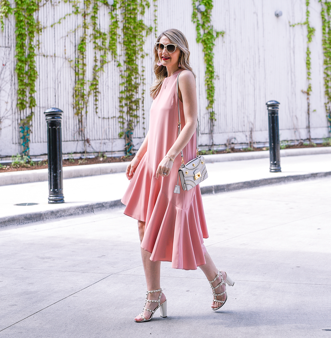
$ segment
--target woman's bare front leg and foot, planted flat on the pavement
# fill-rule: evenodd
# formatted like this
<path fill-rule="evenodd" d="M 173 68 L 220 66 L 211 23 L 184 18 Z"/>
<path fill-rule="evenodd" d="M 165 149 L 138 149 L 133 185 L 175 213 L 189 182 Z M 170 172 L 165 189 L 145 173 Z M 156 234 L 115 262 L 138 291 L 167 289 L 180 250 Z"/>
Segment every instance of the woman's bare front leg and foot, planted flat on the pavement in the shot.
<path fill-rule="evenodd" d="M 139 239 L 140 243 L 142 242 L 144 238 L 145 233 L 145 222 L 138 221 L 138 232 L 139 232 Z M 158 290 L 160 289 L 160 265 L 161 262 L 152 262 L 150 260 L 151 253 L 146 251 L 145 249 L 141 248 L 141 255 L 144 265 L 144 271 L 145 271 L 145 277 L 146 277 L 146 284 L 147 284 L 147 290 Z M 159 299 L 160 292 L 153 292 L 148 294 L 148 299 L 152 300 L 158 300 Z M 165 301 L 165 295 L 162 293 L 160 304 L 162 304 Z M 146 303 L 146 308 L 154 310 L 158 306 L 157 303 Z M 151 312 L 144 311 L 143 315 L 146 319 L 150 318 Z M 136 321 L 142 321 L 143 318 L 138 315 L 134 318 Z"/>

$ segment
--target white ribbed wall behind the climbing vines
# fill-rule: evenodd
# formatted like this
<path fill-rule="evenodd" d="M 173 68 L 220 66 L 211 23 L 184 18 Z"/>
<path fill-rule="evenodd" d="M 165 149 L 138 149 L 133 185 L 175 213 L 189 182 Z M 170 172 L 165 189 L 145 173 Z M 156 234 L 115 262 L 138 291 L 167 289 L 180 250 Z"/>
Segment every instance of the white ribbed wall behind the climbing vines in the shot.
<path fill-rule="evenodd" d="M 208 115 L 205 113 L 206 93 L 204 87 L 204 62 L 202 46 L 196 43 L 195 25 L 191 21 L 191 0 L 158 0 L 158 32 L 177 28 L 186 35 L 190 60 L 197 74 L 197 92 L 202 137 L 201 145 L 209 145 Z M 78 141 L 78 123 L 72 107 L 74 70 L 69 60 L 74 59 L 75 44 L 78 43 L 81 19 L 71 16 L 61 24 L 50 27 L 70 12 L 70 4 L 47 2 L 39 11 L 43 27 L 41 47 L 36 57 L 39 78 L 37 80 L 35 116 L 33 118 L 30 154 L 47 152 L 46 122 L 43 112 L 49 107 L 63 110 L 63 152 L 83 150 Z M 146 12 L 145 22 L 153 25 L 153 6 Z M 276 18 L 275 11 L 283 15 Z M 280 104 L 281 140 L 306 139 L 307 100 L 301 90 L 307 89 L 306 80 L 306 26 L 290 27 L 290 23 L 305 21 L 305 0 L 214 0 L 212 20 L 215 29 L 224 30 L 214 48 L 215 112 L 214 143 L 225 144 L 234 137 L 237 143 L 247 143 L 250 134 L 254 142 L 268 142 L 268 119 L 265 102 L 277 100 Z M 321 139 L 329 136 L 324 108 L 323 51 L 321 4 L 310 1 L 310 22 L 315 27 L 311 49 L 311 136 Z M 100 27 L 107 30 L 108 9 L 99 13 Z M 16 109 L 15 80 L 15 23 L 6 21 L 4 32 L 0 32 L 0 155 L 11 155 L 20 151 L 18 132 L 19 114 Z M 69 33 L 68 33 L 69 32 Z M 143 127 L 148 130 L 149 87 L 153 81 L 152 48 L 154 33 L 149 35 L 145 50 L 150 54 L 144 59 L 146 74 L 145 123 L 140 119 L 134 140 L 137 146 L 143 141 Z M 87 73 L 92 75 L 93 48 L 87 52 Z M 124 140 L 118 139 L 119 74 L 116 62 L 109 57 L 105 71 L 100 75 L 99 113 L 94 112 L 90 99 L 86 116 L 86 137 L 90 140 L 89 152 L 120 151 Z M 142 117 L 142 111 L 140 116 Z M 144 125 L 145 124 L 145 125 Z"/>

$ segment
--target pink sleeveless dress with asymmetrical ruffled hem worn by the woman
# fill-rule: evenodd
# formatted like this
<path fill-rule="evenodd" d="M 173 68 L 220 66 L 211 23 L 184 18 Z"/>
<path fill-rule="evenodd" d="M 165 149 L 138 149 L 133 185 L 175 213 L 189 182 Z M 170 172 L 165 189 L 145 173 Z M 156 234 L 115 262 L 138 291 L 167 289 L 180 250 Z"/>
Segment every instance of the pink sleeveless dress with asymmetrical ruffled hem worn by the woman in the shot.
<path fill-rule="evenodd" d="M 178 108 L 176 81 L 180 70 L 163 80 L 150 111 L 148 146 L 122 198 L 124 214 L 146 222 L 141 247 L 151 252 L 151 261 L 172 262 L 177 269 L 195 270 L 206 264 L 203 238 L 208 238 L 200 187 L 180 194 L 177 185 L 180 154 L 169 176 L 156 178 L 156 169 L 177 139 Z M 179 101 L 182 128 L 183 103 Z M 183 149 L 184 161 L 196 157 L 196 135 Z"/>

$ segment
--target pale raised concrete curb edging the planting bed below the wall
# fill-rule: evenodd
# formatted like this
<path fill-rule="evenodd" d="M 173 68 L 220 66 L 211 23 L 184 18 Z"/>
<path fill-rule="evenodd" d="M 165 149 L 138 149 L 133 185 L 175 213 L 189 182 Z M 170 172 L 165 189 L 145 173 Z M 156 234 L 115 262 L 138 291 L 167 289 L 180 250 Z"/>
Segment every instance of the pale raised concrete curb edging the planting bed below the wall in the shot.
<path fill-rule="evenodd" d="M 300 155 L 317 155 L 330 154 L 331 147 L 318 148 L 299 148 L 299 149 L 282 149 L 280 156 L 300 156 Z M 235 152 L 228 154 L 204 155 L 206 163 L 243 161 L 269 158 L 269 150 Z M 128 162 L 86 164 L 80 166 L 63 167 L 63 178 L 75 178 L 84 176 L 104 175 L 117 172 L 125 172 Z M 0 186 L 10 184 L 22 184 L 32 182 L 43 182 L 48 180 L 48 169 L 36 169 L 25 171 L 13 171 L 0 173 Z"/>

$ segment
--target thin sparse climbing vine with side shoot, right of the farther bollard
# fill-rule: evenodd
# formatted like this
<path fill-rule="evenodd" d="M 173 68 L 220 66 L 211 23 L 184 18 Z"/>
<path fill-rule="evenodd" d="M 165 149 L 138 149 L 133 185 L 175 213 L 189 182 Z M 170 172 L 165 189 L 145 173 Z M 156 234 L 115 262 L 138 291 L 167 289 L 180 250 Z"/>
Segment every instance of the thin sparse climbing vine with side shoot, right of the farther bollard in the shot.
<path fill-rule="evenodd" d="M 295 23 L 293 25 L 290 24 L 290 26 L 295 27 L 297 25 L 305 25 L 307 27 L 306 70 L 307 70 L 308 87 L 307 87 L 307 90 L 302 90 L 302 92 L 307 95 L 307 117 L 308 117 L 307 130 L 308 130 L 309 143 L 312 143 L 311 133 L 310 133 L 311 59 L 310 59 L 309 44 L 311 43 L 312 37 L 314 36 L 315 28 L 311 27 L 310 22 L 309 22 L 309 15 L 310 15 L 309 2 L 310 0 L 306 0 L 306 20 L 305 22 Z"/>

